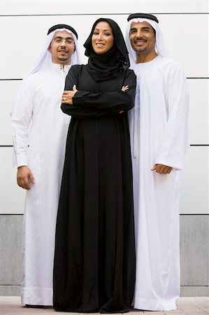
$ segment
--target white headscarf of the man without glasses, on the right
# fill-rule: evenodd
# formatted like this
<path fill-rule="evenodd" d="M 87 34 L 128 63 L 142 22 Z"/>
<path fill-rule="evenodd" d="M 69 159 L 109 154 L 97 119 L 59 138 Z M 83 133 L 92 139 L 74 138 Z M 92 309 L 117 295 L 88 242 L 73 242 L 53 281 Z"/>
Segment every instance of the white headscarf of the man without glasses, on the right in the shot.
<path fill-rule="evenodd" d="M 147 22 L 150 25 L 152 25 L 153 29 L 156 31 L 156 43 L 155 43 L 155 50 L 158 55 L 164 56 L 164 57 L 169 57 L 170 54 L 166 48 L 166 44 L 164 41 L 164 36 L 161 32 L 161 29 L 159 28 L 159 25 L 157 22 L 154 20 L 150 20 L 147 18 L 134 18 L 129 20 L 128 25 L 127 25 L 127 31 L 126 31 L 126 36 L 125 36 L 125 41 L 127 44 L 127 49 L 129 50 L 129 58 L 130 62 L 135 62 L 136 61 L 136 52 L 134 49 L 131 47 L 131 43 L 129 41 L 129 31 L 131 28 L 131 23 L 132 22 Z"/>

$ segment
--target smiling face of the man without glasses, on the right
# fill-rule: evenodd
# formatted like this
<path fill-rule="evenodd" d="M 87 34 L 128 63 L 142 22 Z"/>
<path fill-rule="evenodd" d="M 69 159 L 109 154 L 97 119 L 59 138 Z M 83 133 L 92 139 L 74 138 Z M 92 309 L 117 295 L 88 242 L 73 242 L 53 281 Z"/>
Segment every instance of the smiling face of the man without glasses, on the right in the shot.
<path fill-rule="evenodd" d="M 132 22 L 129 31 L 129 40 L 136 55 L 148 55 L 150 52 L 155 51 L 156 38 L 154 30 L 147 22 Z"/>

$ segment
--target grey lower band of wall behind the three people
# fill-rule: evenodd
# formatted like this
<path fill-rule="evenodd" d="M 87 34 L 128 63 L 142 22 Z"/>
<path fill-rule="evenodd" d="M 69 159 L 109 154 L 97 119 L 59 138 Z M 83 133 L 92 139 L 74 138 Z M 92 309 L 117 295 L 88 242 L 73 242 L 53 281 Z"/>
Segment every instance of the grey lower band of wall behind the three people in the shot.
<path fill-rule="evenodd" d="M 208 216 L 180 216 L 181 295 L 208 296 Z M 0 295 L 20 295 L 22 215 L 0 216 Z"/>

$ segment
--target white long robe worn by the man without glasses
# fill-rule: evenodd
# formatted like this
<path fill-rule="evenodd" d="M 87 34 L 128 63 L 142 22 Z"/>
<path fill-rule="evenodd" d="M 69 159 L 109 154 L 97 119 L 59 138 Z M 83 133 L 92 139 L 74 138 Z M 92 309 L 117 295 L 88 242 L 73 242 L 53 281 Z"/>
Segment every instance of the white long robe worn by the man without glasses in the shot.
<path fill-rule="evenodd" d="M 132 64 L 136 103 L 129 113 L 136 222 L 134 308 L 175 309 L 180 294 L 179 197 L 182 158 L 189 146 L 185 74 L 157 56 Z M 154 164 L 173 167 L 157 174 Z"/>

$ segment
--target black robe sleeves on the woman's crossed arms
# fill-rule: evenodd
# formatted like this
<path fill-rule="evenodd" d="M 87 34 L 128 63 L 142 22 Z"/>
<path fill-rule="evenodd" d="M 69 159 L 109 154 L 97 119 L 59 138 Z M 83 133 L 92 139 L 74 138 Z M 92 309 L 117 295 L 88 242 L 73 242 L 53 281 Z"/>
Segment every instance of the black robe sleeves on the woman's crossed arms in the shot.
<path fill-rule="evenodd" d="M 72 67 L 66 77 L 65 90 L 71 90 L 76 83 L 78 83 L 78 76 Z M 120 111 L 128 111 L 134 106 L 136 88 L 134 71 L 127 71 L 123 85 L 129 85 L 129 90 L 99 93 L 78 90 L 73 97 L 73 106 L 62 104 L 62 111 L 77 118 L 119 115 Z"/>

